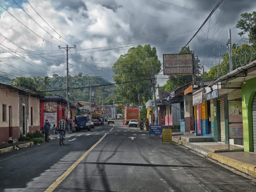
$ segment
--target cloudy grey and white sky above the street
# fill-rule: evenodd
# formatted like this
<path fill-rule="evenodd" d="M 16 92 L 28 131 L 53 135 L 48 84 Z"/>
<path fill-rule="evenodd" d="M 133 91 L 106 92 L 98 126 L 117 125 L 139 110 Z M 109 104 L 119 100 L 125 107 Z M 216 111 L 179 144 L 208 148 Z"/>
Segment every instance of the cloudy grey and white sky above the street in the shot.
<path fill-rule="evenodd" d="M 16 1 L 16 2 L 15 2 Z M 33 77 L 82 72 L 113 82 L 111 67 L 131 46 L 150 44 L 162 54 L 178 53 L 217 0 L 0 0 L 0 74 Z M 16 4 L 17 3 L 17 4 Z M 20 7 L 19 7 L 20 6 Z M 6 9 L 6 10 L 5 10 Z M 23 10 L 22 10 L 23 9 Z M 235 29 L 241 13 L 256 10 L 254 0 L 224 0 L 189 43 L 205 68 L 217 64 L 218 48 L 241 44 Z M 51 26 L 51 27 L 50 27 Z M 5 73 L 3 73 L 5 72 Z M 14 76 L 10 76 L 14 78 Z M 163 85 L 167 76 L 159 75 Z"/>

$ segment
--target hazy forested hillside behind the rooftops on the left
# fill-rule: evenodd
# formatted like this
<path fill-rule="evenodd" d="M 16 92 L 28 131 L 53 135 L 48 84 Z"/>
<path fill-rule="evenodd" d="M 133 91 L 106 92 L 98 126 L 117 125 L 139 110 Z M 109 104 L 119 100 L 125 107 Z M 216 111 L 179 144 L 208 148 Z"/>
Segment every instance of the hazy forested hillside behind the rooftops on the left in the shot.
<path fill-rule="evenodd" d="M 66 97 L 66 76 L 53 76 L 53 77 L 17 77 L 10 79 L 8 75 L 0 76 L 0 82 L 13 84 L 18 87 L 22 87 L 35 92 L 40 92 L 43 95 L 51 96 L 54 94 Z M 92 102 L 113 104 L 116 98 L 116 86 L 98 86 L 111 84 L 111 82 L 97 76 L 88 75 L 75 75 L 70 76 L 69 86 L 70 99 L 74 101 L 89 101 L 90 100 L 90 84 L 92 85 L 92 92 L 94 96 L 91 97 Z M 78 88 L 78 89 L 72 89 Z M 60 90 L 61 91 L 55 91 Z"/>

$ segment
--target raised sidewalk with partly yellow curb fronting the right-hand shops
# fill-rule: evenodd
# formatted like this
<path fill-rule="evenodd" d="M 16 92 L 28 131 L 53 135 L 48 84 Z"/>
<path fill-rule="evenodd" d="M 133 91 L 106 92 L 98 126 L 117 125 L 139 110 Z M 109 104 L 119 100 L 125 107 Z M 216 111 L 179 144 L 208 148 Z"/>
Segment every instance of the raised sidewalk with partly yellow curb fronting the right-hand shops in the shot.
<path fill-rule="evenodd" d="M 255 152 L 244 152 L 243 147 L 237 145 L 230 145 L 228 149 L 228 144 L 218 142 L 191 142 L 189 138 L 194 137 L 192 134 L 173 135 L 172 140 L 256 178 Z"/>

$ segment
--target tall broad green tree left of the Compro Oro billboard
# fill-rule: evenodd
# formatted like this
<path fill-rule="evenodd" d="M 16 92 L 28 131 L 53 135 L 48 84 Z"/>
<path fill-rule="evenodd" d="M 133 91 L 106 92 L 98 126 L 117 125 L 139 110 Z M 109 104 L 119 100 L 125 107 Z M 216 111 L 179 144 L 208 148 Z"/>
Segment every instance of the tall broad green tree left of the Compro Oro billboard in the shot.
<path fill-rule="evenodd" d="M 152 62 L 152 67 L 151 67 Z M 132 47 L 124 55 L 120 55 L 119 59 L 113 65 L 115 83 L 117 85 L 117 93 L 123 98 L 124 103 L 138 104 L 138 94 L 143 94 L 142 101 L 144 103 L 152 96 L 151 94 L 151 75 L 160 72 L 161 63 L 158 60 L 156 48 L 150 45 L 144 47 L 138 45 Z M 131 83 L 123 83 L 127 81 L 136 81 Z"/>

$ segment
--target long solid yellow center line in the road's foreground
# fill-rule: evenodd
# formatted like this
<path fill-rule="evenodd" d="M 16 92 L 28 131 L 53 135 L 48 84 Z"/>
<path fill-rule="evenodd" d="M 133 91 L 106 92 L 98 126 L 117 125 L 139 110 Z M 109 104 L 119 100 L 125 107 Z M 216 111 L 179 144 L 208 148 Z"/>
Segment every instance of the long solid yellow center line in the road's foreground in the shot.
<path fill-rule="evenodd" d="M 113 129 L 113 128 L 112 128 Z M 44 192 L 52 192 L 54 189 L 56 189 L 56 187 L 69 175 L 69 173 L 71 173 L 71 171 L 93 150 L 94 147 L 96 147 L 96 145 L 98 145 L 102 139 L 104 137 L 106 137 L 106 133 L 104 134 L 103 137 L 101 137 L 101 139 L 95 143 L 89 150 L 87 150 L 73 165 L 71 165 L 67 171 L 65 171 L 56 181 L 54 181 L 53 184 L 51 184 L 50 187 L 48 187 L 48 189 L 46 189 Z"/>

